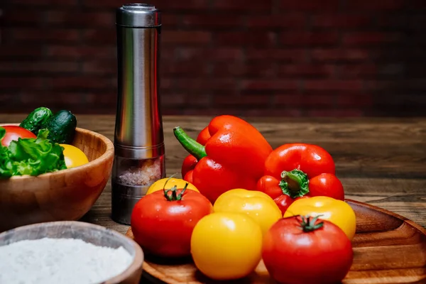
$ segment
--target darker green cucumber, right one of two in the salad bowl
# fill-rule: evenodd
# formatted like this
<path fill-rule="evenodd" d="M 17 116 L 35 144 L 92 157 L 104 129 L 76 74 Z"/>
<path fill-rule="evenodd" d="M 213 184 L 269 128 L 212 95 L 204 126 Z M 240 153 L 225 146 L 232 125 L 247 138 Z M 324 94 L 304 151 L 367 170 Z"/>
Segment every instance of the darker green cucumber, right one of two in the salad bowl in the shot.
<path fill-rule="evenodd" d="M 48 139 L 51 142 L 71 144 L 74 139 L 77 119 L 71 111 L 60 110 L 54 114 L 46 124 Z"/>

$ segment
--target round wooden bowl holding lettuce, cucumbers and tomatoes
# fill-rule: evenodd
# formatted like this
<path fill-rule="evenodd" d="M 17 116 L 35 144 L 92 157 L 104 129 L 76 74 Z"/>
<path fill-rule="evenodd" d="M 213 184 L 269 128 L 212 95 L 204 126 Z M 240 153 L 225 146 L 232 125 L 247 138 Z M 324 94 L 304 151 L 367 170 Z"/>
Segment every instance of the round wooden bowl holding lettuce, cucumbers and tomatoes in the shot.
<path fill-rule="evenodd" d="M 109 138 L 80 128 L 72 145 L 87 155 L 89 163 L 36 177 L 0 179 L 0 232 L 40 222 L 75 221 L 89 211 L 111 175 L 114 145 Z"/>

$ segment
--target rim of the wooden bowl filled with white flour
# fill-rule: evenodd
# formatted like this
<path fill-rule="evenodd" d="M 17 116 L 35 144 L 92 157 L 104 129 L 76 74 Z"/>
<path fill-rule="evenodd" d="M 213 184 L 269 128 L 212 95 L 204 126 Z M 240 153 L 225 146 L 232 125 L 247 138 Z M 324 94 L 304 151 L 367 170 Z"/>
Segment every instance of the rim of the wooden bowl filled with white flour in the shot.
<path fill-rule="evenodd" d="M 130 266 L 126 268 L 125 271 L 120 273 L 119 275 L 114 276 L 113 278 L 109 278 L 107 280 L 104 280 L 102 284 L 116 284 L 121 283 L 122 281 L 126 280 L 127 278 L 130 278 L 133 273 L 135 273 L 138 269 L 142 269 L 143 261 L 144 261 L 144 254 L 141 249 L 141 246 L 139 246 L 136 241 L 129 238 L 129 236 L 126 236 L 124 234 L 120 234 L 118 231 L 115 231 L 113 229 L 108 229 L 104 226 L 100 226 L 97 224 L 87 223 L 87 222 L 81 222 L 81 221 L 55 221 L 55 222 L 43 222 L 43 223 L 37 223 L 37 224 L 30 224 L 26 226 L 18 226 L 15 229 L 10 229 L 8 231 L 4 231 L 0 234 L 0 239 L 5 236 L 6 234 L 10 234 L 11 231 L 26 231 L 28 229 L 32 229 L 34 227 L 38 226 L 62 226 L 62 225 L 68 225 L 68 226 L 75 226 L 76 229 L 82 230 L 82 229 L 94 229 L 97 231 L 102 232 L 108 232 L 112 236 L 114 236 L 116 239 L 118 239 L 121 244 L 124 242 L 129 242 L 132 247 L 133 251 L 135 253 L 133 257 L 133 261 L 131 262 Z"/>

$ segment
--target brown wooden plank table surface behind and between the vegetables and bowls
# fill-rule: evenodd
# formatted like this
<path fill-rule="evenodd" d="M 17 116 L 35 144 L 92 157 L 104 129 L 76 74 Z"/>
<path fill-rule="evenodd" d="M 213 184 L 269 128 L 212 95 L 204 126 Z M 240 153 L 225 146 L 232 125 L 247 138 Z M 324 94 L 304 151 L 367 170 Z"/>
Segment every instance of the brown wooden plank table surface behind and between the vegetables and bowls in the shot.
<path fill-rule="evenodd" d="M 114 116 L 76 115 L 77 126 L 113 140 Z M 1 122 L 21 121 L 0 114 Z M 164 116 L 167 176 L 179 173 L 187 155 L 173 136 L 181 126 L 193 138 L 211 116 Z M 273 148 L 283 143 L 315 143 L 332 154 L 346 198 L 391 210 L 426 228 L 426 119 L 246 118 Z M 111 185 L 82 218 L 125 234 L 129 226 L 111 220 Z"/>

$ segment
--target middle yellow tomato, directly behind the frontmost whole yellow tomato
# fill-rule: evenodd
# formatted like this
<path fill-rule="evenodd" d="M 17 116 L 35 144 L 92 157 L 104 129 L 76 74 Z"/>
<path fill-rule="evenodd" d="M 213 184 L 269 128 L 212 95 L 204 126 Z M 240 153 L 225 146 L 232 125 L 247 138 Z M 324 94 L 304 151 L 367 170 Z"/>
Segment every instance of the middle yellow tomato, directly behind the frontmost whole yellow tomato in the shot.
<path fill-rule="evenodd" d="M 214 212 L 244 213 L 253 218 L 262 233 L 283 217 L 280 208 L 264 192 L 236 188 L 220 195 L 213 206 Z"/>

